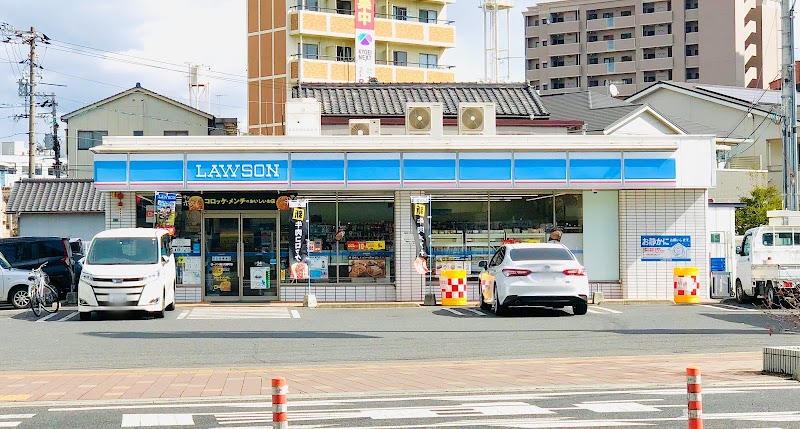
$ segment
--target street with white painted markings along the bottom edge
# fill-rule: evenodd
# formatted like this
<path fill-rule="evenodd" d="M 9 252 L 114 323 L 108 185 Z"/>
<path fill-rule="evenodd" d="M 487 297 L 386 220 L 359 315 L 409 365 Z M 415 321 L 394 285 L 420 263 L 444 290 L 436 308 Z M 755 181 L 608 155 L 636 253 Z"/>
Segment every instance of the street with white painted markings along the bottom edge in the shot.
<path fill-rule="evenodd" d="M 800 384 L 774 381 L 703 391 L 706 429 L 800 428 Z M 686 428 L 685 387 L 494 391 L 289 399 L 293 428 Z M 5 425 L 3 425 L 3 422 Z M 271 428 L 267 401 L 113 401 L 0 406 L 0 427 Z"/>

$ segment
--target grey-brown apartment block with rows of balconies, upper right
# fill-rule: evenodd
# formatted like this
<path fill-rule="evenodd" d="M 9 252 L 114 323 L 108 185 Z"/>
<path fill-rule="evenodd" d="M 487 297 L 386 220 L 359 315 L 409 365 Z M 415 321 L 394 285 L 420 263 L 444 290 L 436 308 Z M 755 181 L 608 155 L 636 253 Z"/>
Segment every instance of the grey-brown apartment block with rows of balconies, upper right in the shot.
<path fill-rule="evenodd" d="M 523 14 L 525 75 L 542 94 L 766 88 L 780 73 L 779 0 L 561 0 Z"/>

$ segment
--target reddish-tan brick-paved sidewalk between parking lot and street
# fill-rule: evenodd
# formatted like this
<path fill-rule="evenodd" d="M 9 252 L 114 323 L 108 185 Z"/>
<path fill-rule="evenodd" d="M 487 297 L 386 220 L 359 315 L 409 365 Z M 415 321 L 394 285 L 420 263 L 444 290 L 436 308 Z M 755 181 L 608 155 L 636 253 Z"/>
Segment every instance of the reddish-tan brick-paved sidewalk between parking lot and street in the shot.
<path fill-rule="evenodd" d="M 0 402 L 270 395 L 286 377 L 293 394 L 499 388 L 685 385 L 773 381 L 760 352 L 463 362 L 377 362 L 333 366 L 0 372 Z"/>

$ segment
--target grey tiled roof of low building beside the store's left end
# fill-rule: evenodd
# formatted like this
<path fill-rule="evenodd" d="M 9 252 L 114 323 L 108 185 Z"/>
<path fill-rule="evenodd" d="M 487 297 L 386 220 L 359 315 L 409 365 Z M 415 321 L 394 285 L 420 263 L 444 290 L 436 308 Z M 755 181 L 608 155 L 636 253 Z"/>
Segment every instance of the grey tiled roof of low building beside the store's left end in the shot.
<path fill-rule="evenodd" d="M 104 212 L 104 194 L 91 180 L 23 179 L 14 183 L 8 199 L 9 213 Z"/>

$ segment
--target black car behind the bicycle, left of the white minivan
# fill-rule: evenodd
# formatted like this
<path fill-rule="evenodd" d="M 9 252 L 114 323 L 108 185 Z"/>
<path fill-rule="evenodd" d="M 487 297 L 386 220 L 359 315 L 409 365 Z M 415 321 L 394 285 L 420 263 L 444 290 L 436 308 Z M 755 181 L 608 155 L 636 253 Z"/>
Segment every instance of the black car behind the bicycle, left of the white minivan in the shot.
<path fill-rule="evenodd" d="M 64 299 L 75 284 L 74 262 L 68 238 L 13 237 L 0 239 L 0 253 L 14 268 L 33 270 L 47 262 L 44 272 Z"/>

